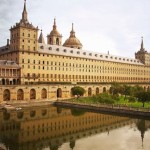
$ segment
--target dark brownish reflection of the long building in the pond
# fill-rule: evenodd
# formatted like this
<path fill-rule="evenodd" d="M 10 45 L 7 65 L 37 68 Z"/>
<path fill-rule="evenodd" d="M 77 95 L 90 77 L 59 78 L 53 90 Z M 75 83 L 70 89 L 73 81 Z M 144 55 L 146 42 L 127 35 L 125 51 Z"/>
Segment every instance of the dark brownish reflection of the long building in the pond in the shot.
<path fill-rule="evenodd" d="M 57 150 L 70 142 L 101 132 L 109 132 L 135 120 L 108 114 L 84 112 L 76 109 L 45 106 L 0 112 L 0 139 L 9 150 Z M 142 139 L 146 128 L 137 121 Z"/>

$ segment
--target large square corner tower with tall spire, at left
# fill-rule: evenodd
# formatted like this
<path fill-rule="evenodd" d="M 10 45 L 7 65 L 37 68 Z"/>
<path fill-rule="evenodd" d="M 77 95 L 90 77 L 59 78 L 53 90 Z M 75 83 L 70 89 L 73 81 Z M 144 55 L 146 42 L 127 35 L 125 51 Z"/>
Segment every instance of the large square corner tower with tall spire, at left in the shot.
<path fill-rule="evenodd" d="M 19 51 L 36 51 L 38 49 L 38 27 L 35 28 L 28 21 L 28 13 L 26 9 L 26 0 L 22 18 L 10 29 L 10 48 Z"/>

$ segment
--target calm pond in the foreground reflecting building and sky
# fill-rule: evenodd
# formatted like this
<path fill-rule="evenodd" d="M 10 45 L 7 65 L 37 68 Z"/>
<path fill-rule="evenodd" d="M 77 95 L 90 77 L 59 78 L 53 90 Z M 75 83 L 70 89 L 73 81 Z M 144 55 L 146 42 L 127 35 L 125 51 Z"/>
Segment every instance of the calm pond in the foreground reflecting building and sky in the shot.
<path fill-rule="evenodd" d="M 150 150 L 150 121 L 54 106 L 0 111 L 4 150 Z"/>

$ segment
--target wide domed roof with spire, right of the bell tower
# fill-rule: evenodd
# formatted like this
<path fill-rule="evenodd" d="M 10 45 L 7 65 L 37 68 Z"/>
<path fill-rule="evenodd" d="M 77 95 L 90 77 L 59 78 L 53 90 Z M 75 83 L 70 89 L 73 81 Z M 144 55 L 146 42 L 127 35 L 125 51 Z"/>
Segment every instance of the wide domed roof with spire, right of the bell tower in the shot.
<path fill-rule="evenodd" d="M 78 40 L 75 36 L 75 32 L 73 30 L 73 24 L 72 24 L 72 31 L 70 32 L 70 37 L 65 41 L 63 46 L 77 48 L 77 49 L 82 48 L 82 44 L 81 44 L 80 40 Z"/>

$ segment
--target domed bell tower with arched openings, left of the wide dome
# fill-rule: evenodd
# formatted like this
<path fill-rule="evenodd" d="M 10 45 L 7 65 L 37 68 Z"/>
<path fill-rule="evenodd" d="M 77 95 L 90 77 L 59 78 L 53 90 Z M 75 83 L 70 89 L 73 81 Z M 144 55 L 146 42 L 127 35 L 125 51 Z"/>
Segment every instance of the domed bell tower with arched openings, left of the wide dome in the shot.
<path fill-rule="evenodd" d="M 57 31 L 56 19 L 54 18 L 53 30 L 47 35 L 47 44 L 62 45 L 62 35 Z"/>

